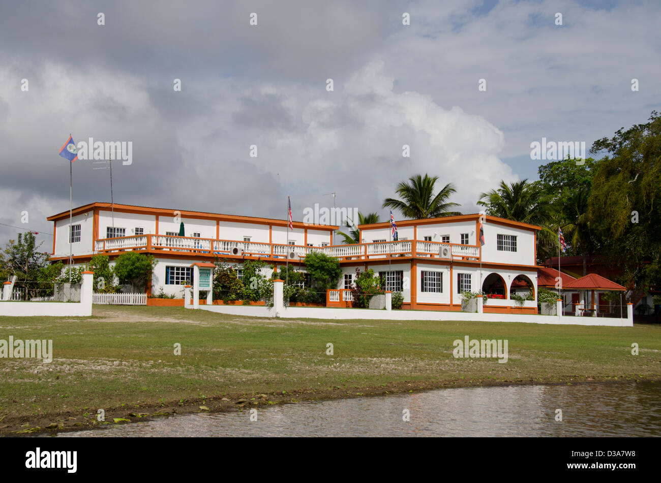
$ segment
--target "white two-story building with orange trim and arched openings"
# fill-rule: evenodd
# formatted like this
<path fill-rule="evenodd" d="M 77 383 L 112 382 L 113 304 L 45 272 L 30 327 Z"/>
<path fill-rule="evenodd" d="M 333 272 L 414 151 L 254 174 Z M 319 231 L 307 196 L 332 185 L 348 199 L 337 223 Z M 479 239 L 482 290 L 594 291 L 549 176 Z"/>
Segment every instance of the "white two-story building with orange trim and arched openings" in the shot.
<path fill-rule="evenodd" d="M 479 242 L 483 217 L 485 245 Z M 111 263 L 123 251 L 151 253 L 158 261 L 149 290 L 181 294 L 194 261 L 223 257 L 241 267 L 261 259 L 274 267 L 289 261 L 305 271 L 305 256 L 323 251 L 342 267 L 338 289 L 350 288 L 356 269 L 373 269 L 386 290 L 402 292 L 409 309 L 460 310 L 462 292 L 492 294 L 485 311 L 536 312 L 536 303 L 512 308 L 512 294 L 537 293 L 536 238 L 539 227 L 465 214 L 401 220 L 399 240 L 390 240 L 389 222 L 361 225 L 361 243 L 334 245 L 338 226 L 209 212 L 91 203 L 50 216 L 54 222 L 52 261 L 73 263 L 103 253 Z M 180 236 L 182 228 L 184 234 Z"/>

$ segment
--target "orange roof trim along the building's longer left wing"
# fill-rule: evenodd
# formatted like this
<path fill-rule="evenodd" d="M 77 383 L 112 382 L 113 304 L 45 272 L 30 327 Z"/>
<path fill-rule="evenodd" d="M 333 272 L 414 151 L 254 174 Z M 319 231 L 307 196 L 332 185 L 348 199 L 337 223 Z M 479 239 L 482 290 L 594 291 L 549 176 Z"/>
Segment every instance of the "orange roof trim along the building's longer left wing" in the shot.
<path fill-rule="evenodd" d="M 89 211 L 94 208 L 98 209 L 110 209 L 110 203 L 89 203 L 88 205 L 83 205 L 72 210 L 73 214 L 79 214 L 81 212 Z M 151 214 L 151 215 L 164 215 L 171 216 L 173 210 L 163 209 L 163 208 L 152 208 L 152 207 L 140 207 L 137 205 L 114 205 L 114 210 L 121 213 L 139 213 L 139 214 Z M 255 216 L 239 216 L 233 214 L 221 214 L 221 213 L 211 213 L 204 211 L 188 211 L 188 210 L 179 210 L 181 218 L 193 218 L 200 220 L 219 220 L 219 221 L 229 221 L 229 222 L 245 222 L 245 223 L 254 223 L 254 224 L 274 224 L 276 226 L 288 226 L 288 220 L 278 220 L 276 218 L 258 218 Z M 63 211 L 58 214 L 54 214 L 46 218 L 48 221 L 52 220 L 61 220 L 69 216 L 69 211 Z M 293 222 L 294 228 L 305 228 L 307 224 L 303 222 Z M 317 225 L 315 226 L 317 230 L 338 230 L 339 226 L 334 225 Z"/>

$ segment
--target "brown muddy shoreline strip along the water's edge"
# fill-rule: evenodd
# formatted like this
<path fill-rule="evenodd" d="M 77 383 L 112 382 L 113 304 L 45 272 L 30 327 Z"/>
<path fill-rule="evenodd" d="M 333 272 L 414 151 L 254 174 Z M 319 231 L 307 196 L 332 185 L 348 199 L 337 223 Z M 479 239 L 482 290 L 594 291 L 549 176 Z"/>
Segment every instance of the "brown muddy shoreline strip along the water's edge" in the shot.
<path fill-rule="evenodd" d="M 654 382 L 656 379 L 617 379 L 612 377 L 572 377 L 563 381 L 557 379 L 512 379 L 496 381 L 486 380 L 454 380 L 454 381 L 400 381 L 370 387 L 334 387 L 332 389 L 298 389 L 283 391 L 283 393 L 227 394 L 224 396 L 207 397 L 205 399 L 189 399 L 185 403 L 172 401 L 167 404 L 143 404 L 132 408 L 104 408 L 104 421 L 97 420 L 96 412 L 67 411 L 50 414 L 49 416 L 17 416 L 5 415 L 0 420 L 0 437 L 20 437 L 27 435 L 48 435 L 60 432 L 71 432 L 91 429 L 102 429 L 114 424 L 130 424 L 144 422 L 163 416 L 177 414 L 196 414 L 202 412 L 218 413 L 239 411 L 248 408 L 272 406 L 274 404 L 293 404 L 302 401 L 330 401 L 354 397 L 384 396 L 401 393 L 418 393 L 432 389 L 452 389 L 461 387 L 491 387 L 509 385 L 566 385 L 579 383 L 623 383 L 623 382 Z M 90 410 L 91 411 L 91 410 Z M 121 421 L 114 422 L 115 419 Z"/>

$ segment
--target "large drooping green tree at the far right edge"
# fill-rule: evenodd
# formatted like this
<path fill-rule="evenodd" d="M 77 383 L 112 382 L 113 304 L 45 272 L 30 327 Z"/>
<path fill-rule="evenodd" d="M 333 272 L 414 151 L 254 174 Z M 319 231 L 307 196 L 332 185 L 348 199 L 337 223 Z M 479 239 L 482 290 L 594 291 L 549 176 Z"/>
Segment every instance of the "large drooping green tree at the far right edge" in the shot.
<path fill-rule="evenodd" d="M 661 284 L 661 117 L 619 129 L 592 145 L 607 152 L 600 160 L 589 217 L 603 239 L 602 255 L 621 267 L 620 282 L 634 289 L 638 302 L 650 286 Z"/>

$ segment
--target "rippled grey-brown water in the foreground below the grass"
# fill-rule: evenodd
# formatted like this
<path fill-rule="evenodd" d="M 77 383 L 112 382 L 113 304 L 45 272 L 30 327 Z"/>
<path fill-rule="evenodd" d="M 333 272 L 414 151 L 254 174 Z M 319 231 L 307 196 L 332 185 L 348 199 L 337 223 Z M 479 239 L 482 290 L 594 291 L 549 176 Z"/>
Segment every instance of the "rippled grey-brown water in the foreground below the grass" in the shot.
<path fill-rule="evenodd" d="M 260 407 L 256 421 L 245 408 L 58 436 L 659 436 L 660 400 L 661 383 L 438 389 Z"/>

